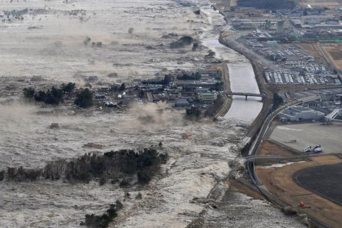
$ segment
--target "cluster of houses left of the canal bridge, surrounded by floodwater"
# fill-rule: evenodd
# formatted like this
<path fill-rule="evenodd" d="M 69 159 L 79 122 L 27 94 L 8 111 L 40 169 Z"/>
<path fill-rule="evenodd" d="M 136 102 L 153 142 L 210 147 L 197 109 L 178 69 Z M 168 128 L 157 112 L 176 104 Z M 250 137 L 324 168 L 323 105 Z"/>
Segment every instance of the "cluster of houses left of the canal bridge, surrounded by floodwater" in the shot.
<path fill-rule="evenodd" d="M 139 80 L 110 84 L 107 87 L 94 89 L 95 103 L 106 107 L 117 107 L 117 104 L 167 102 L 174 107 L 200 105 L 203 108 L 212 104 L 220 92 L 215 90 L 218 83 L 217 71 L 205 72 L 201 80 L 174 80 L 162 83 L 162 79 Z M 216 78 L 215 78 L 216 76 Z M 216 86 L 216 87 L 215 87 Z M 122 90 L 123 89 L 123 90 Z"/>

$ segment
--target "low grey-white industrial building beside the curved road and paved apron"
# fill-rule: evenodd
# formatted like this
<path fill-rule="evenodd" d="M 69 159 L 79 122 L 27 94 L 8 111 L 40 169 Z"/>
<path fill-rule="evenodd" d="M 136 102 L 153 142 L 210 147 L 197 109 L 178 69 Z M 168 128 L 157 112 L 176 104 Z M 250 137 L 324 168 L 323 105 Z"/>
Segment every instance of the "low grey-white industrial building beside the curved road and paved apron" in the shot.
<path fill-rule="evenodd" d="M 303 106 L 293 106 L 279 113 L 279 118 L 282 121 L 307 121 L 319 120 L 324 118 L 324 113 L 306 108 Z"/>

